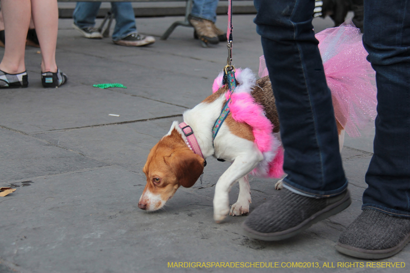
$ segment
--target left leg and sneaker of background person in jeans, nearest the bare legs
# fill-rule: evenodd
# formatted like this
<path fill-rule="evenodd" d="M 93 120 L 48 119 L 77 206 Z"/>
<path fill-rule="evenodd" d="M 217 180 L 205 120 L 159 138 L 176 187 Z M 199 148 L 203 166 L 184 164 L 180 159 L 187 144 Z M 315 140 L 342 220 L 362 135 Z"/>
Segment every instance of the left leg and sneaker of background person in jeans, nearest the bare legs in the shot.
<path fill-rule="evenodd" d="M 101 2 L 77 2 L 74 12 L 73 28 L 86 38 L 103 38 L 103 35 L 94 28 Z"/>

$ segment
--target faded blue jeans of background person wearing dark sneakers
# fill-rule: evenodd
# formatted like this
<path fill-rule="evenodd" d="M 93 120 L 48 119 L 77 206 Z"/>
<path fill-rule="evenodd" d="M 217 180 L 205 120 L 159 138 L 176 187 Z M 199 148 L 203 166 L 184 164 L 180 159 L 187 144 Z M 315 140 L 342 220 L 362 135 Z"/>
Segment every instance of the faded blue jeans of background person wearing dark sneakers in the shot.
<path fill-rule="evenodd" d="M 77 2 L 73 12 L 74 24 L 80 28 L 94 27 L 101 2 Z M 111 2 L 111 11 L 115 18 L 112 40 L 124 39 L 137 33 L 134 9 L 130 2 Z"/>

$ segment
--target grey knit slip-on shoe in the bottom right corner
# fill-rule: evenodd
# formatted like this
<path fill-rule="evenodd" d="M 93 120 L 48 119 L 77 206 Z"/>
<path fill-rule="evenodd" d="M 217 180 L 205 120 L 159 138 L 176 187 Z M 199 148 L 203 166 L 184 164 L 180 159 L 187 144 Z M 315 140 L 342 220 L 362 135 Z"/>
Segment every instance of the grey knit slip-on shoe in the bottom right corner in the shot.
<path fill-rule="evenodd" d="M 410 218 L 387 215 L 376 209 L 363 212 L 340 235 L 336 249 L 360 259 L 384 259 L 410 242 Z"/>

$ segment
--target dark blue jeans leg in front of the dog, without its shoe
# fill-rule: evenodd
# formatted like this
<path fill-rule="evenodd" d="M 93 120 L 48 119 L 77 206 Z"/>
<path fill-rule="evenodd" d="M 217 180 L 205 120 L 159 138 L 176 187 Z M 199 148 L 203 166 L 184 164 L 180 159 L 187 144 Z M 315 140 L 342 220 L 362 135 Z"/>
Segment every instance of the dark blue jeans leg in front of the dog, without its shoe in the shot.
<path fill-rule="evenodd" d="M 338 134 L 318 41 L 312 26 L 314 0 L 255 0 L 280 121 L 284 186 L 312 197 L 347 187 Z"/>

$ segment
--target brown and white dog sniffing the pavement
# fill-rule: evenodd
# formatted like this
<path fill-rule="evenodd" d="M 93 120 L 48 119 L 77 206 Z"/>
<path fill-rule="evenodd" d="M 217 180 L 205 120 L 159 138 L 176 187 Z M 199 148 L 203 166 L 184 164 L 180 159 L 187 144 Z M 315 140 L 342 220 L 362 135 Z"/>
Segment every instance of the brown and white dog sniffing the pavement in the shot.
<path fill-rule="evenodd" d="M 278 135 L 279 119 L 269 77 L 260 78 L 256 82 L 254 79 L 248 83 L 241 82 L 239 78 L 238 82 L 239 85 L 249 85 L 255 102 L 263 107 L 265 116 L 273 124 L 272 133 Z M 227 91 L 228 87 L 222 86 L 196 107 L 183 113 L 183 121 L 192 128 L 203 158 L 188 147 L 186 136 L 177 121 L 172 123 L 168 134 L 151 149 L 143 169 L 147 177 L 147 185 L 139 199 L 139 208 L 156 211 L 165 205 L 179 186 L 194 185 L 202 174 L 204 159 L 212 155 L 232 162 L 215 186 L 214 220 L 220 222 L 228 214 L 239 216 L 249 212 L 251 194 L 248 174 L 263 161 L 264 155 L 255 144 L 251 126 L 236 121 L 231 113 L 222 123 L 213 140 L 212 129 L 227 101 L 225 95 Z M 337 128 L 341 149 L 344 130 L 339 122 Z M 236 181 L 239 182 L 239 196 L 236 203 L 230 207 L 228 194 Z M 276 187 L 281 188 L 280 181 Z"/>

